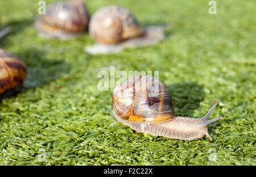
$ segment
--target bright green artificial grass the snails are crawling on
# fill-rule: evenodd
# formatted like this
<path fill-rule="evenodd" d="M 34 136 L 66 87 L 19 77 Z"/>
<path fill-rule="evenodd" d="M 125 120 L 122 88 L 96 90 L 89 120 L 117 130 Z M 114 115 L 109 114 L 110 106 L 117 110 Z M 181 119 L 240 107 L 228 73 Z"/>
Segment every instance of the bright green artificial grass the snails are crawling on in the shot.
<path fill-rule="evenodd" d="M 53 1 L 46 1 L 47 4 Z M 88 35 L 60 41 L 38 35 L 38 1 L 0 2 L 2 25 L 13 32 L 1 48 L 22 58 L 22 90 L 0 103 L 0 165 L 256 165 L 256 2 L 88 1 L 127 7 L 143 26 L 174 23 L 158 45 L 91 56 Z M 146 6 L 145 6 L 146 5 Z M 179 116 L 202 117 L 217 99 L 208 126 L 213 141 L 134 132 L 111 115 L 112 91 L 98 91 L 97 73 L 159 71 Z"/>

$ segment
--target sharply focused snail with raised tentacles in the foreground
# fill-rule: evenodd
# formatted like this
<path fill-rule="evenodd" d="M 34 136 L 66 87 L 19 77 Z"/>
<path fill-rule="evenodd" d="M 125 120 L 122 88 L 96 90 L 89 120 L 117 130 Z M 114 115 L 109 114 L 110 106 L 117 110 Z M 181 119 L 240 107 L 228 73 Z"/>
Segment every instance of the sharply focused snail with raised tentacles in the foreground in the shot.
<path fill-rule="evenodd" d="M 150 75 L 139 75 L 114 88 L 113 115 L 122 124 L 153 136 L 194 140 L 206 135 L 212 141 L 207 125 L 223 119 L 208 120 L 218 102 L 202 118 L 176 116 L 166 85 Z"/>

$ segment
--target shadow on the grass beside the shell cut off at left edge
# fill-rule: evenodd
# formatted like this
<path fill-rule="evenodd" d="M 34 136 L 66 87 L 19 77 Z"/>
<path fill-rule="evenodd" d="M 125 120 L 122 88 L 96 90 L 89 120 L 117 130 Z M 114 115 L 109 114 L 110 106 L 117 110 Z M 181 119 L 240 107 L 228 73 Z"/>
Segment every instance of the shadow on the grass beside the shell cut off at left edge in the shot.
<path fill-rule="evenodd" d="M 71 69 L 71 65 L 63 60 L 49 60 L 42 50 L 24 49 L 15 55 L 27 65 L 27 78 L 22 87 L 19 86 L 1 94 L 0 100 L 15 96 L 21 90 L 43 86 L 68 73 Z"/>

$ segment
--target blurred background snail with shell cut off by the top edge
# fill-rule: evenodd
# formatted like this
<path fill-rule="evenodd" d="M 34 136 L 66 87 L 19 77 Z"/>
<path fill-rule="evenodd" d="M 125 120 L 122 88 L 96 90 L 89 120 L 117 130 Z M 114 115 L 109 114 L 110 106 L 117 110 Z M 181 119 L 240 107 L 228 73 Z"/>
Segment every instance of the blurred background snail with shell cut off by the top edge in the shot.
<path fill-rule="evenodd" d="M 89 24 L 89 13 L 82 0 L 55 2 L 47 7 L 46 14 L 36 19 L 35 27 L 48 37 L 67 39 L 81 35 Z"/>

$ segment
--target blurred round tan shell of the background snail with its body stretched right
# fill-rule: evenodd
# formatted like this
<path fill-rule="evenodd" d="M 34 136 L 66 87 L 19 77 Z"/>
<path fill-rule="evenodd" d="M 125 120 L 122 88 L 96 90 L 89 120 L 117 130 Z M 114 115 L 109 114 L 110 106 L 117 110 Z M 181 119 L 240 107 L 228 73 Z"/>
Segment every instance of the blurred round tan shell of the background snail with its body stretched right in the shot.
<path fill-rule="evenodd" d="M 108 6 L 92 15 L 89 33 L 99 43 L 116 44 L 128 38 L 141 36 L 143 28 L 129 10 L 119 6 Z"/>

